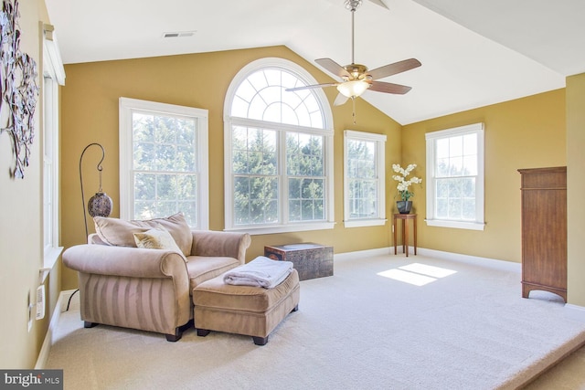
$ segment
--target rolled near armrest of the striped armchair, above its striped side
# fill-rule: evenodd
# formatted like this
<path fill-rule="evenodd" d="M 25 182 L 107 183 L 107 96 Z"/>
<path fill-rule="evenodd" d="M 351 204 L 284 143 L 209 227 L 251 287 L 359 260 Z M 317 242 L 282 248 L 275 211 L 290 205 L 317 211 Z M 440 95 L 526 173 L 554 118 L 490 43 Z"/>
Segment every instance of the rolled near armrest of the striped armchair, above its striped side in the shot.
<path fill-rule="evenodd" d="M 80 272 L 129 278 L 169 278 L 185 274 L 185 260 L 164 249 L 76 245 L 63 252 L 63 264 Z"/>

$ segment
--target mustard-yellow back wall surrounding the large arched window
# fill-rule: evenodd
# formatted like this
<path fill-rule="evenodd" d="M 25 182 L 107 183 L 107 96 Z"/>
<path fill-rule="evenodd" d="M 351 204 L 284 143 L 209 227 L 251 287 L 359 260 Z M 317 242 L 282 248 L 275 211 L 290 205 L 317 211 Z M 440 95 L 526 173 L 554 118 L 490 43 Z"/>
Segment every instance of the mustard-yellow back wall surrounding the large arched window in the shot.
<path fill-rule="evenodd" d="M 223 105 L 229 83 L 238 71 L 258 58 L 291 59 L 311 72 L 318 82 L 331 81 L 312 64 L 286 47 L 207 54 L 140 58 L 66 66 L 67 85 L 62 95 L 62 234 L 65 247 L 85 241 L 80 200 L 79 159 L 83 148 L 100 142 L 106 150 L 103 162 L 103 190 L 112 196 L 112 216 L 119 216 L 118 99 L 153 100 L 207 109 L 209 111 L 210 224 L 224 227 L 223 201 Z M 325 89 L 330 101 L 335 89 Z M 346 229 L 343 226 L 343 131 L 377 132 L 388 135 L 388 161 L 400 155 L 400 126 L 364 100 L 356 100 L 357 123 L 351 104 L 333 108 L 335 125 L 335 221 L 331 230 L 252 237 L 248 258 L 263 254 L 264 245 L 314 241 L 332 245 L 336 253 L 390 244 L 388 226 Z M 91 151 L 91 153 L 90 153 Z M 98 188 L 95 165 L 101 152 L 92 148 L 84 155 L 86 199 Z M 387 168 L 388 169 L 388 168 Z M 388 206 L 391 199 L 388 200 Z M 91 222 L 91 221 L 90 221 Z M 90 227 L 90 231 L 93 227 Z M 76 275 L 63 270 L 63 288 L 73 289 Z"/>

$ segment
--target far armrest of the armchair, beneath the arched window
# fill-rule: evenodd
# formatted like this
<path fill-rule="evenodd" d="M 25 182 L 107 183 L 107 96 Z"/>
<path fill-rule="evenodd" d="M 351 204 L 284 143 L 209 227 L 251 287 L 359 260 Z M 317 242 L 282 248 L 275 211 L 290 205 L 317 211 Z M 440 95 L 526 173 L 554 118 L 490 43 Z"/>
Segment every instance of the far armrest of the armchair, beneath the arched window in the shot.
<path fill-rule="evenodd" d="M 250 243 L 248 233 L 193 230 L 191 256 L 237 258 L 240 264 L 244 264 Z"/>

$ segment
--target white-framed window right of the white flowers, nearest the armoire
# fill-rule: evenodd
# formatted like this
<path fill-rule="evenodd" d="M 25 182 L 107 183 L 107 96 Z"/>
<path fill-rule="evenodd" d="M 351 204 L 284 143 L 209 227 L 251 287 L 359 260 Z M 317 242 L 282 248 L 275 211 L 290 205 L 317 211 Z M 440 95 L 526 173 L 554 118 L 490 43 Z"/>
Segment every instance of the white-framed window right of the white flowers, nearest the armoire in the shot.
<path fill-rule="evenodd" d="M 428 132 L 427 225 L 484 230 L 484 124 Z"/>

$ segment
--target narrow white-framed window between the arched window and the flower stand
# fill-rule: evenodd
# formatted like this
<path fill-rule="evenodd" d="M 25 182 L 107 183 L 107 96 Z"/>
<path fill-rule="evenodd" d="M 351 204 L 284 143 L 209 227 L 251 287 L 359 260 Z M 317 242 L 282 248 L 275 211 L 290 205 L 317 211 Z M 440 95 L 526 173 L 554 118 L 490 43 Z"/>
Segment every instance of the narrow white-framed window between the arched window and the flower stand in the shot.
<path fill-rule="evenodd" d="M 344 215 L 346 227 L 386 223 L 386 135 L 344 132 Z"/>

